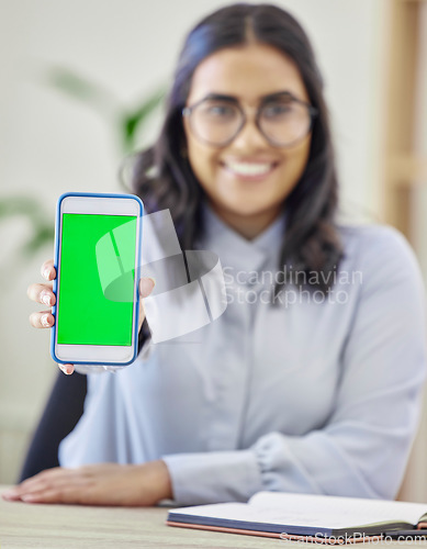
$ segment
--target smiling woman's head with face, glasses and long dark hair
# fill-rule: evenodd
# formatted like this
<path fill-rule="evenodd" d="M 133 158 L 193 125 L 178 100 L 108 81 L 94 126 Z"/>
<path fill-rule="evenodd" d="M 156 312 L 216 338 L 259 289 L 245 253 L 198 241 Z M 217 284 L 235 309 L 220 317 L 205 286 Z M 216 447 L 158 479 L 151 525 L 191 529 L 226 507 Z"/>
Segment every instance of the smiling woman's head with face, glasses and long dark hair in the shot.
<path fill-rule="evenodd" d="M 273 127 L 278 104 L 271 101 L 279 97 L 286 116 Z M 213 99 L 215 105 L 205 104 Z M 224 102 L 228 115 L 233 110 L 227 139 L 223 124 L 221 135 L 218 123 L 214 136 L 212 124 L 206 127 L 207 112 L 212 115 L 215 107 L 217 115 L 221 107 L 224 113 Z M 147 177 L 153 167 L 157 176 Z M 254 238 L 280 214 L 285 198 L 280 264 L 328 272 L 336 268 L 341 255 L 333 222 L 337 177 L 323 79 L 294 18 L 274 5 L 231 5 L 192 30 L 159 139 L 139 158 L 135 190 L 148 211 L 170 209 L 184 248 L 203 233 L 206 199 L 228 226 Z"/>

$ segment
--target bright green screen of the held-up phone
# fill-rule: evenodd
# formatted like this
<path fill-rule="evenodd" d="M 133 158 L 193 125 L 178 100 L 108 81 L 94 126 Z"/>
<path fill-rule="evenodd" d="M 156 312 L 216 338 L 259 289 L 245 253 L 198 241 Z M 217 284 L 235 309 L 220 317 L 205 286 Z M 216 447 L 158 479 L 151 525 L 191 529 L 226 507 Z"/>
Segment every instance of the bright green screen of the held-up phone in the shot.
<path fill-rule="evenodd" d="M 115 231 L 131 224 L 126 238 Z M 98 246 L 108 238 L 110 246 Z M 57 343 L 131 346 L 135 279 L 136 216 L 64 213 L 60 237 Z M 123 265 L 123 261 L 126 265 Z M 128 300 L 105 298 L 100 270 L 131 271 L 124 277 Z"/>

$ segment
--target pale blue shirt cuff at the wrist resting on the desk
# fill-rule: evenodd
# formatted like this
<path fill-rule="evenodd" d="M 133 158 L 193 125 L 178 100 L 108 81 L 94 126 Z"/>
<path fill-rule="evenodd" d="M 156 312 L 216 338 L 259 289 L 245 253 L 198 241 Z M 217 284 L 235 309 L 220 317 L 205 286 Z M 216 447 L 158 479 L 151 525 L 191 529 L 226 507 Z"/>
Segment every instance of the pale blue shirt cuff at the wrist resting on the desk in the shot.
<path fill-rule="evenodd" d="M 252 450 L 175 453 L 161 459 L 169 470 L 173 498 L 180 505 L 246 502 L 262 490 Z"/>

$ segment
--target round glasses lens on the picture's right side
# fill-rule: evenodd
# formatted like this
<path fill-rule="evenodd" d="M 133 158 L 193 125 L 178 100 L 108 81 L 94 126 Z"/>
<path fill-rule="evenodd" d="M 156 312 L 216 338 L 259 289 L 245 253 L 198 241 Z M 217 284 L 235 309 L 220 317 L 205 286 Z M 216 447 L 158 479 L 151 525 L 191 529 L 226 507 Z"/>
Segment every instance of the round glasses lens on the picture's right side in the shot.
<path fill-rule="evenodd" d="M 285 146 L 299 142 L 310 131 L 312 119 L 305 104 L 290 98 L 276 98 L 265 103 L 259 127 L 269 142 Z"/>

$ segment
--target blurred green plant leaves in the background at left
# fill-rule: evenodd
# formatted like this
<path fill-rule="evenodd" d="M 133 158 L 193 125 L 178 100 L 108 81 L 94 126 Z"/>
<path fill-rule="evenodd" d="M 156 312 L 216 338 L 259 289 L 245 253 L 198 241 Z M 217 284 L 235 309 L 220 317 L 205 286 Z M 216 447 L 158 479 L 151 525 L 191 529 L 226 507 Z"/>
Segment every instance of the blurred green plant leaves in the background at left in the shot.
<path fill-rule="evenodd" d="M 77 72 L 63 67 L 47 71 L 45 82 L 97 111 L 119 137 L 121 157 L 131 155 L 139 145 L 143 132 L 151 115 L 159 109 L 166 86 L 159 86 L 136 107 L 124 107 L 109 90 Z M 31 258 L 54 239 L 53 215 L 47 215 L 36 198 L 10 195 L 0 198 L 0 223 L 24 217 L 30 223 L 29 238 L 18 249 L 21 258 Z"/>

